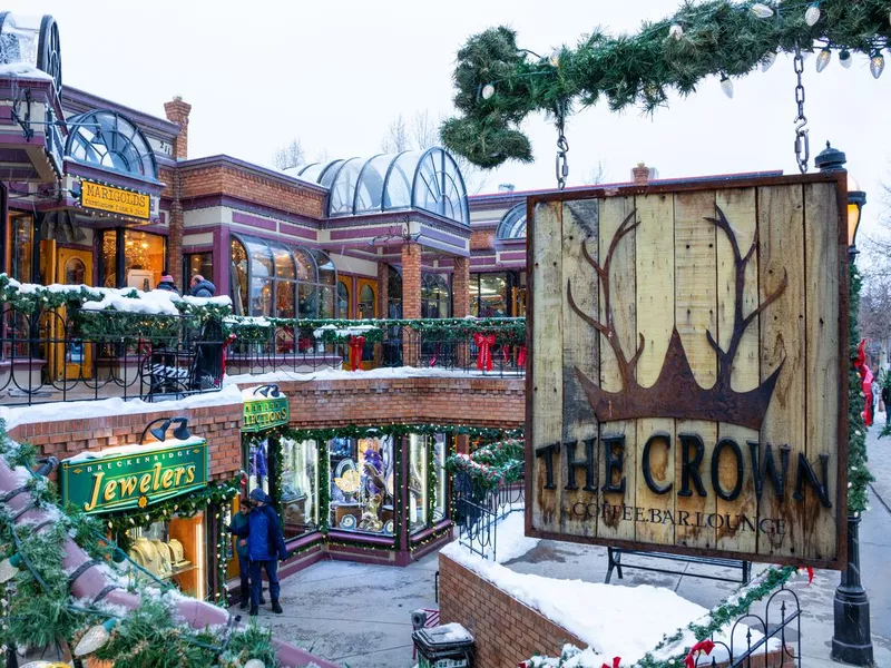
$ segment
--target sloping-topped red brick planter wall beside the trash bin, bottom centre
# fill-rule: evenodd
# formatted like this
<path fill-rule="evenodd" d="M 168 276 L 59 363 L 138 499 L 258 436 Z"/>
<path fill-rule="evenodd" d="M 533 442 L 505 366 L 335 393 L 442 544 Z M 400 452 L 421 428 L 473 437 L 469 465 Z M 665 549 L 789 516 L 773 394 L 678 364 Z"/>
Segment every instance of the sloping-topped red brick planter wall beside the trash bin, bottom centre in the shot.
<path fill-rule="evenodd" d="M 566 629 L 442 553 L 439 609 L 442 623 L 457 621 L 473 636 L 476 668 L 517 666 L 537 654 L 560 656 L 566 642 L 587 647 Z"/>

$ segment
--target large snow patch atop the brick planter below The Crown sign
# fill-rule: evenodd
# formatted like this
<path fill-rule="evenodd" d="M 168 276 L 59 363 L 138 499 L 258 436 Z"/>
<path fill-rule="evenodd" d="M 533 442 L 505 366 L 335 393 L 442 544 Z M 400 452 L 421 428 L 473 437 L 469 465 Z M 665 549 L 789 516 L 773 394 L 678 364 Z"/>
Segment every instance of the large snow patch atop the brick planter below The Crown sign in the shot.
<path fill-rule="evenodd" d="M 605 662 L 611 665 L 613 657 L 621 657 L 623 666 L 633 666 L 665 636 L 675 633 L 692 621 L 702 621 L 708 615 L 708 610 L 702 606 L 660 587 L 621 587 L 517 573 L 500 563 L 482 559 L 458 542 L 443 548 L 442 554 L 587 644 L 589 648 L 579 655 L 578 662 L 571 664 L 577 668 L 600 668 Z M 747 627 L 736 627 L 736 647 L 745 647 L 747 632 Z M 752 630 L 752 642 L 761 637 Z M 715 641 L 718 640 L 730 645 L 730 633 L 718 635 Z M 665 660 L 695 642 L 693 633 L 685 631 L 681 640 L 654 655 Z M 718 662 L 722 658 L 726 659 L 726 652 L 722 657 L 719 646 L 713 656 Z M 552 665 L 557 665 L 556 660 Z"/>

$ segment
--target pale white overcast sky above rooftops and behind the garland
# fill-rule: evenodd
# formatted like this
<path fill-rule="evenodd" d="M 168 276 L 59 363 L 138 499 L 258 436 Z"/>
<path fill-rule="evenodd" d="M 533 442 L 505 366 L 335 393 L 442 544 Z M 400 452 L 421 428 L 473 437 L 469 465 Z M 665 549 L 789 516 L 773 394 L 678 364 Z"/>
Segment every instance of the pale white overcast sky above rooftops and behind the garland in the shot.
<path fill-rule="evenodd" d="M 676 7 L 675 0 L 4 3 L 56 17 L 66 84 L 158 116 L 165 100 L 180 95 L 193 105 L 189 157 L 228 154 L 256 163 L 268 163 L 292 137 L 311 158 L 370 156 L 400 112 L 449 115 L 456 51 L 488 27 L 509 24 L 520 46 L 549 53 L 595 26 L 633 31 Z M 845 70 L 834 56 L 817 75 L 814 61 L 805 63 L 812 154 L 826 139 L 848 154 L 868 193 L 861 234 L 870 234 L 882 215 L 881 184 L 891 183 L 891 71 L 877 81 L 865 57 Z M 586 183 L 598 161 L 608 180 L 627 180 L 639 160 L 660 177 L 793 173 L 794 84 L 792 60 L 781 58 L 767 73 L 734 80 L 733 100 L 712 79 L 653 118 L 610 114 L 605 105 L 582 109 L 567 128 L 570 185 Z M 536 116 L 526 130 L 536 163 L 491 173 L 483 191 L 501 183 L 555 185 L 552 126 Z"/>

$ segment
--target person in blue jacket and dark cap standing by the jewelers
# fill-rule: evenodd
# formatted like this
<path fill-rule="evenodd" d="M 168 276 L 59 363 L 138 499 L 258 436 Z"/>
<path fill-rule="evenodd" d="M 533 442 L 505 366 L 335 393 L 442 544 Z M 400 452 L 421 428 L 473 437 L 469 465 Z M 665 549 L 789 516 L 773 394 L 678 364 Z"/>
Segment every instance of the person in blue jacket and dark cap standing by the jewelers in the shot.
<path fill-rule="evenodd" d="M 247 558 L 251 562 L 251 616 L 260 610 L 260 595 L 263 587 L 262 571 L 266 570 L 270 580 L 270 599 L 272 611 L 281 615 L 282 606 L 278 605 L 278 561 L 287 559 L 285 537 L 278 522 L 278 513 L 268 505 L 272 501 L 262 489 L 257 488 L 249 494 L 253 510 L 247 515 L 247 524 L 233 527 L 233 533 L 247 539 Z"/>

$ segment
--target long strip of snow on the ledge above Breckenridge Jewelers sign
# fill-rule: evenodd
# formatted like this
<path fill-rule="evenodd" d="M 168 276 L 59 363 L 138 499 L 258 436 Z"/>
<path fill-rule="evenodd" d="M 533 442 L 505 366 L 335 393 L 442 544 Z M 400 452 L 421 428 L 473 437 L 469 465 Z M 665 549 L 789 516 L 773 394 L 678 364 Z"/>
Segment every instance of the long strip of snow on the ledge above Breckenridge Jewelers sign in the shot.
<path fill-rule="evenodd" d="M 100 401 L 72 401 L 60 404 L 45 403 L 32 406 L 0 406 L 0 419 L 7 423 L 7 429 L 20 424 L 35 422 L 58 422 L 60 420 L 85 420 L 89 418 L 105 418 L 107 415 L 131 415 L 138 413 L 155 413 L 164 411 L 175 413 L 180 409 L 197 409 L 202 406 L 225 406 L 242 404 L 242 392 L 236 386 L 224 387 L 219 392 L 205 392 L 193 394 L 177 401 L 146 402 L 141 399 L 104 399 Z"/>

